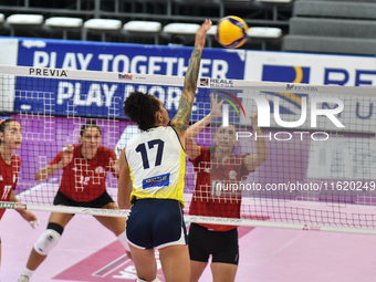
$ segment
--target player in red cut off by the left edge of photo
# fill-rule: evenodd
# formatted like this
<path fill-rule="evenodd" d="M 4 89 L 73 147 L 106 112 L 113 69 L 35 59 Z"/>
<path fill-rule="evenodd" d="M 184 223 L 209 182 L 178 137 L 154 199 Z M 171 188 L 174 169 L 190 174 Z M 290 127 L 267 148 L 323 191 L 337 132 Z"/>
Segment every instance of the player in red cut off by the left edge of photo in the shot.
<path fill-rule="evenodd" d="M 14 150 L 21 147 L 21 143 L 22 127 L 19 122 L 12 118 L 0 121 L 0 201 L 19 202 L 13 190 L 17 186 L 21 159 L 14 154 Z M 4 212 L 6 209 L 0 209 L 0 220 Z M 38 219 L 32 212 L 28 210 L 18 210 L 18 212 L 24 220 L 30 222 L 32 228 L 34 228 L 34 223 L 38 222 Z"/>

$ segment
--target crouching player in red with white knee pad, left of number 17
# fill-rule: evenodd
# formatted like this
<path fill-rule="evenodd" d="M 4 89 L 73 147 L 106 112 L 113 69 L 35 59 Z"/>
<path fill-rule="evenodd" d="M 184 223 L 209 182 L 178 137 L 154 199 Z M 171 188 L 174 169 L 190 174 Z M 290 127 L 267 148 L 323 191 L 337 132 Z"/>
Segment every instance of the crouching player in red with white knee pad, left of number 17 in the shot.
<path fill-rule="evenodd" d="M 101 139 L 102 132 L 97 124 L 93 121 L 86 122 L 81 127 L 81 144 L 65 146 L 49 165 L 36 173 L 35 179 L 44 180 L 59 169 L 63 169 L 53 205 L 118 209 L 107 194 L 105 185 L 107 171 L 118 177 L 116 157 L 113 150 L 100 145 Z M 27 268 L 19 281 L 29 281 L 34 270 L 56 246 L 73 216 L 72 213 L 51 213 L 46 230 L 31 250 Z M 130 257 L 125 234 L 125 218 L 97 216 L 95 218 L 115 233 Z"/>

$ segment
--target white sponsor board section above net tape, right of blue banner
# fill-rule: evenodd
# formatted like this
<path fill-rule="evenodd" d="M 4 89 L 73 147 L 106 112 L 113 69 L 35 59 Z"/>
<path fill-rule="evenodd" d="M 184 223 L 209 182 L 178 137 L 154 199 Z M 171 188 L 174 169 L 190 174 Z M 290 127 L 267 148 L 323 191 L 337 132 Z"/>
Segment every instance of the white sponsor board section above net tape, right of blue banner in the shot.
<path fill-rule="evenodd" d="M 375 86 L 375 65 L 372 56 L 247 51 L 244 80 Z"/>

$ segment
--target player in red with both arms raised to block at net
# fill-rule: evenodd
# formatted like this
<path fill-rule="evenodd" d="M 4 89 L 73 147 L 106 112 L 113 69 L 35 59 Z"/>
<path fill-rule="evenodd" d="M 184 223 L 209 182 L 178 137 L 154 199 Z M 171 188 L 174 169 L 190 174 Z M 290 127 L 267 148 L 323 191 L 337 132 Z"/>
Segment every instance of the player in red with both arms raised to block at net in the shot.
<path fill-rule="evenodd" d="M 257 114 L 251 115 L 257 154 L 232 155 L 238 142 L 233 125 L 220 126 L 213 138 L 215 146 L 205 148 L 192 138 L 209 123 L 221 116 L 218 97 L 210 94 L 211 113 L 187 130 L 186 152 L 197 173 L 189 215 L 240 218 L 241 190 L 231 190 L 230 184 L 240 184 L 242 177 L 254 171 L 268 158 L 268 149 L 258 126 Z M 190 282 L 198 281 L 212 255 L 211 272 L 215 282 L 234 281 L 238 261 L 238 230 L 234 226 L 191 223 L 188 234 Z"/>

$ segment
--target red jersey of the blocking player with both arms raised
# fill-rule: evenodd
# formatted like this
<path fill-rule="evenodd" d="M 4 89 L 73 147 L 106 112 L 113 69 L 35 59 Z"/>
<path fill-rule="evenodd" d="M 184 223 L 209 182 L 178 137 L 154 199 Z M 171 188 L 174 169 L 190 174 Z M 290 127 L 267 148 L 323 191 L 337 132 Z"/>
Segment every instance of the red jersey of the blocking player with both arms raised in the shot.
<path fill-rule="evenodd" d="M 251 171 L 244 165 L 247 155 L 233 155 L 219 161 L 201 147 L 201 154 L 194 160 L 197 171 L 195 192 L 189 215 L 205 217 L 240 218 L 242 178 Z M 216 231 L 228 231 L 236 226 L 198 223 Z"/>

